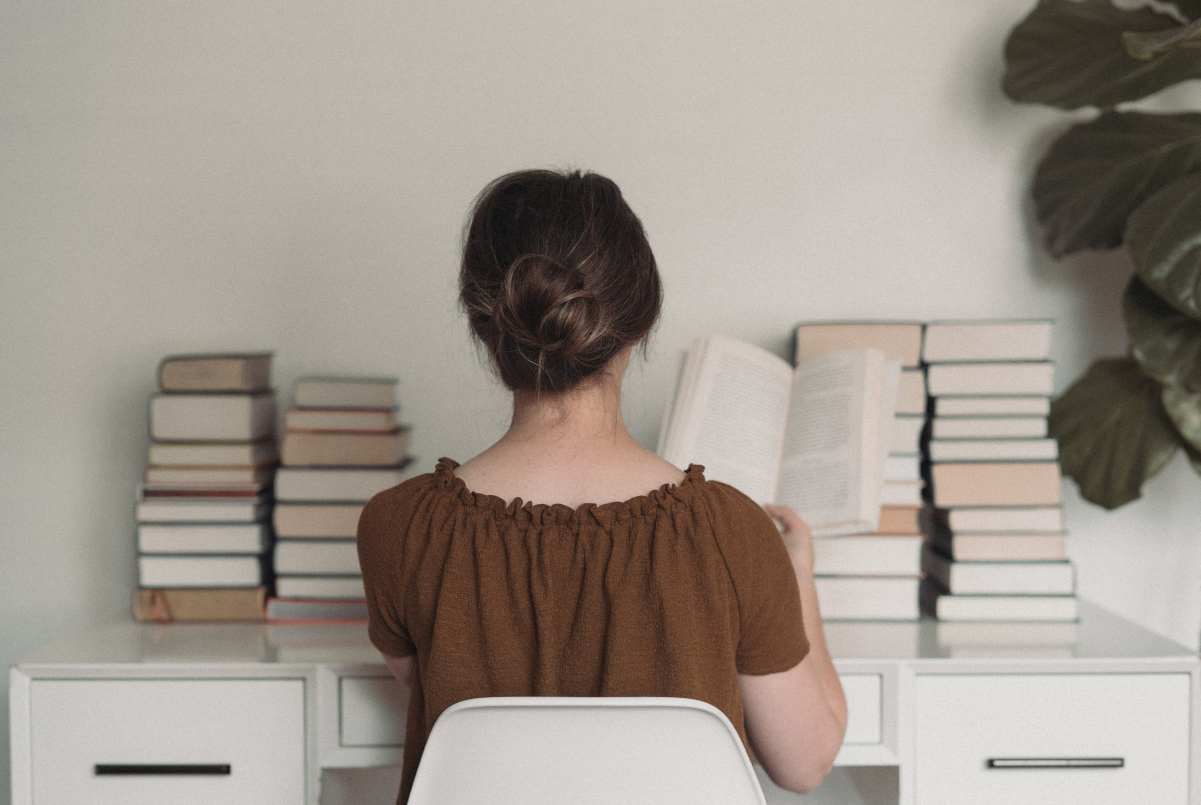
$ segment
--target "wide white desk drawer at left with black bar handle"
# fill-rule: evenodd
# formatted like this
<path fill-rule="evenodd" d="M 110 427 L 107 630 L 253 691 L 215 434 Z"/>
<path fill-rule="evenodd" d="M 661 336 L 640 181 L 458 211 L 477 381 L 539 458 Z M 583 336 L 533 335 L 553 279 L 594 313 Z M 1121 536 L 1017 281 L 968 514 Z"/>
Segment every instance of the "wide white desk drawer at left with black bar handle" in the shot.
<path fill-rule="evenodd" d="M 295 805 L 304 723 L 301 680 L 34 680 L 34 805 Z"/>

